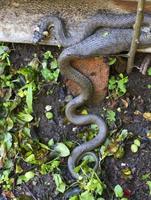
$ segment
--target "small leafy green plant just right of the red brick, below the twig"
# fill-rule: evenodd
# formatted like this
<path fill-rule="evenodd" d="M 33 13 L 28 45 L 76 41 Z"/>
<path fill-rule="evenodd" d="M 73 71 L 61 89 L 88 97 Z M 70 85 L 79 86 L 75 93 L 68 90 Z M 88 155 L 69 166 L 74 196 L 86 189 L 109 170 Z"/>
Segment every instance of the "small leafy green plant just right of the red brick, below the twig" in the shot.
<path fill-rule="evenodd" d="M 109 90 L 112 94 L 116 94 L 116 96 L 123 96 L 126 93 L 126 84 L 128 82 L 128 77 L 123 74 L 119 74 L 117 78 L 115 76 L 111 76 L 109 79 Z"/>

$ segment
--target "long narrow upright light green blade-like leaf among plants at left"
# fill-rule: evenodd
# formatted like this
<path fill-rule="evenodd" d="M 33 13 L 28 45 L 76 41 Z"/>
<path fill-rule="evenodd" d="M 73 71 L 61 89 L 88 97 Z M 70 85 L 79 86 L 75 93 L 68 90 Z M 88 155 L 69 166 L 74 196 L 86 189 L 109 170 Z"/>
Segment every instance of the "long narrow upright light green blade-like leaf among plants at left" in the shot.
<path fill-rule="evenodd" d="M 33 112 L 33 108 L 32 108 L 32 103 L 33 103 L 32 83 L 28 84 L 28 86 L 27 86 L 26 103 L 27 103 L 28 112 L 32 113 Z"/>

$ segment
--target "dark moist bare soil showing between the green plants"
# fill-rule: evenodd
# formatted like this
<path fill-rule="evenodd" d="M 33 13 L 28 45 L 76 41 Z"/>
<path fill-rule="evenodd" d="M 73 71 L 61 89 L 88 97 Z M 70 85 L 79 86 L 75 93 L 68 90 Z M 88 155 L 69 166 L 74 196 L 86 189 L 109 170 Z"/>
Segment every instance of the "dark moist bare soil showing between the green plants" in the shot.
<path fill-rule="evenodd" d="M 26 65 L 36 53 L 41 57 L 46 50 L 50 50 L 57 57 L 60 49 L 47 46 L 32 46 L 16 44 L 10 45 L 13 49 L 11 60 L 15 67 Z M 142 176 L 151 172 L 151 140 L 147 138 L 147 133 L 151 131 L 151 121 L 145 120 L 140 113 L 151 112 L 151 90 L 147 85 L 151 84 L 151 77 L 144 76 L 134 70 L 129 76 L 127 93 L 125 96 L 111 102 L 104 100 L 97 106 L 89 106 L 88 110 L 100 114 L 103 106 L 110 107 L 114 111 L 121 108 L 121 112 L 117 113 L 117 129 L 128 129 L 133 133 L 133 137 L 124 143 L 125 155 L 122 159 L 107 157 L 102 163 L 103 180 L 107 185 L 106 200 L 116 199 L 111 197 L 110 191 L 115 185 L 120 184 L 124 188 L 125 196 L 130 200 L 149 200 L 149 188 L 146 180 L 142 180 Z M 47 91 L 51 90 L 51 94 Z M 48 141 L 53 138 L 55 141 L 64 142 L 66 140 L 74 140 L 80 142 L 78 132 L 85 127 L 76 127 L 71 123 L 67 123 L 64 108 L 68 101 L 70 92 L 65 88 L 61 78 L 58 84 L 47 84 L 39 92 L 34 103 L 34 114 L 39 117 L 40 124 L 38 128 L 33 127 L 33 137 L 38 137 L 41 141 Z M 126 105 L 126 103 L 128 105 Z M 54 113 L 53 120 L 47 120 L 44 116 L 46 105 L 51 105 Z M 73 129 L 74 128 L 74 129 Z M 109 125 L 109 130 L 113 129 Z M 130 147 L 134 139 L 140 137 L 141 147 L 137 153 L 132 153 Z M 61 174 L 66 182 L 71 181 L 71 176 L 67 171 L 67 159 L 64 161 L 64 168 Z M 123 178 L 123 166 L 131 169 L 131 177 Z M 36 176 L 33 181 L 28 182 L 21 187 L 15 188 L 16 195 L 20 199 L 39 199 L 39 200 L 60 200 L 63 199 L 55 192 L 55 184 L 51 174 L 45 176 Z M 26 196 L 26 198 L 25 198 Z M 27 197 L 30 196 L 30 197 Z"/>

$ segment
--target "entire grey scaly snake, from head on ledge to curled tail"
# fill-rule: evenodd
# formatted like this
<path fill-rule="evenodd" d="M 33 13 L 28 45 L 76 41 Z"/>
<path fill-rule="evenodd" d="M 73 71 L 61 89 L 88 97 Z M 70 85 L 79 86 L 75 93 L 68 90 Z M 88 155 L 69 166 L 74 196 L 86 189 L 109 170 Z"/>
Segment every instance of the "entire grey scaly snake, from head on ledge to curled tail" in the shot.
<path fill-rule="evenodd" d="M 98 160 L 93 149 L 100 146 L 107 134 L 107 127 L 104 120 L 96 115 L 77 115 L 76 109 L 83 105 L 93 96 L 93 85 L 89 78 L 72 67 L 71 61 L 75 58 L 87 56 L 109 55 L 126 51 L 130 48 L 135 13 L 112 14 L 101 13 L 81 22 L 76 27 L 75 34 L 71 35 L 65 30 L 62 21 L 56 16 L 42 18 L 35 30 L 33 42 L 37 43 L 45 38 L 43 32 L 53 27 L 54 35 L 58 42 L 66 47 L 58 58 L 61 74 L 67 79 L 74 80 L 81 87 L 81 94 L 71 100 L 66 106 L 66 116 L 69 121 L 76 125 L 97 124 L 98 134 L 90 141 L 77 146 L 68 159 L 68 168 L 73 178 L 78 179 L 79 174 L 74 168 L 86 154 L 95 158 L 95 169 Z M 145 14 L 144 26 L 151 24 L 151 15 Z M 148 29 L 149 30 L 149 29 Z M 142 31 L 140 45 L 150 45 L 150 32 Z"/>

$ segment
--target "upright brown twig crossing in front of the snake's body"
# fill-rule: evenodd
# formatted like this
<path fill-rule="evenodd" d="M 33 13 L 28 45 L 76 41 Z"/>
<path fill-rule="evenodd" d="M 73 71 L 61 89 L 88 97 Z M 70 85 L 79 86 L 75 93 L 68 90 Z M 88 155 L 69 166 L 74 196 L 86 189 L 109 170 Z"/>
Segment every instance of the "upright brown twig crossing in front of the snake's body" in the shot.
<path fill-rule="evenodd" d="M 138 6 L 137 6 L 136 21 L 134 25 L 134 33 L 133 33 L 133 38 L 132 38 L 131 47 L 129 51 L 129 58 L 128 58 L 128 64 L 127 64 L 127 70 L 126 70 L 128 74 L 132 71 L 134 67 L 134 59 L 135 59 L 137 46 L 139 44 L 141 24 L 143 21 L 144 4 L 145 4 L 145 0 L 139 0 Z"/>

